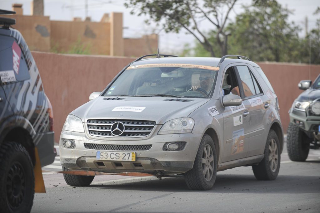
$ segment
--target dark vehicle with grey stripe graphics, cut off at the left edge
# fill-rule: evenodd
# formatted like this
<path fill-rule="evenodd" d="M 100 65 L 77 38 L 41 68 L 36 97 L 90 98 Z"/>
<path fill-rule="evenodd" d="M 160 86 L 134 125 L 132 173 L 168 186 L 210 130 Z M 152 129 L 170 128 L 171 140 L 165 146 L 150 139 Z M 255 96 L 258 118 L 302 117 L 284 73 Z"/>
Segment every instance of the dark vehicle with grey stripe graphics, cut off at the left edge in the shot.
<path fill-rule="evenodd" d="M 53 117 L 35 60 L 13 24 L 0 17 L 0 212 L 30 212 L 35 175 L 43 183 L 39 168 L 56 155 Z"/>

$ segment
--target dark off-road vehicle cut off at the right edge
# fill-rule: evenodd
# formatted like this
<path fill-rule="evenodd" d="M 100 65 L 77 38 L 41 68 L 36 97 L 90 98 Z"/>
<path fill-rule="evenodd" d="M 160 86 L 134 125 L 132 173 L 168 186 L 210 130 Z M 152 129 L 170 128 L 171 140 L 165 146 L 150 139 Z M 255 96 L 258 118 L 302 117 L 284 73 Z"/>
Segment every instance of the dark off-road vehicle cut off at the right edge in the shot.
<path fill-rule="evenodd" d="M 320 75 L 310 85 L 311 80 L 300 81 L 299 89 L 306 91 L 289 110 L 287 150 L 292 161 L 305 161 L 309 149 L 318 149 L 320 145 Z"/>

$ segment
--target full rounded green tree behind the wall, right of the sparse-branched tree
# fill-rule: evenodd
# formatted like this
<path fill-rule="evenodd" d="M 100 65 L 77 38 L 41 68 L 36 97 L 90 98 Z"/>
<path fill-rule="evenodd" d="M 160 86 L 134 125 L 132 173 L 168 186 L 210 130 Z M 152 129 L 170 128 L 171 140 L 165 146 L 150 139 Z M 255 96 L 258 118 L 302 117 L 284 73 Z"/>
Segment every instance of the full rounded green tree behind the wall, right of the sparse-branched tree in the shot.
<path fill-rule="evenodd" d="M 255 1 L 228 26 L 232 30 L 229 52 L 255 61 L 297 62 L 299 27 L 288 22 L 290 13 L 276 0 Z"/>

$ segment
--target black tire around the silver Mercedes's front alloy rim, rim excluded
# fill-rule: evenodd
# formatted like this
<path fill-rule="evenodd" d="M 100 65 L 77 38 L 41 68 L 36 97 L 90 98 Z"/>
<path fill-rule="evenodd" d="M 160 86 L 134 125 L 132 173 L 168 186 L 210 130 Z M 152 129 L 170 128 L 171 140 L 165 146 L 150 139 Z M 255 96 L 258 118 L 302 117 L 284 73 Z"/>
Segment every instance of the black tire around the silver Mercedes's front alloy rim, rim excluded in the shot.
<path fill-rule="evenodd" d="M 204 178 L 202 155 L 204 147 L 209 144 L 213 152 L 213 175 L 210 181 Z M 204 134 L 201 139 L 193 168 L 184 175 L 186 184 L 191 190 L 209 190 L 213 187 L 217 176 L 217 154 L 212 138 L 208 134 Z"/>

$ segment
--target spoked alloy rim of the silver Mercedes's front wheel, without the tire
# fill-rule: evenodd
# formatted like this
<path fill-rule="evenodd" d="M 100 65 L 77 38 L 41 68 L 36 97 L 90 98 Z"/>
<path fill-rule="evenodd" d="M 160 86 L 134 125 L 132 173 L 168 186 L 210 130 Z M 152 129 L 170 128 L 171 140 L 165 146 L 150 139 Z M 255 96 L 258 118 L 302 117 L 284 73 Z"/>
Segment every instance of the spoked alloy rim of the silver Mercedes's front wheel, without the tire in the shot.
<path fill-rule="evenodd" d="M 202 151 L 202 170 L 206 181 L 210 181 L 212 179 L 213 165 L 214 160 L 212 147 L 209 144 L 206 144 Z"/>

